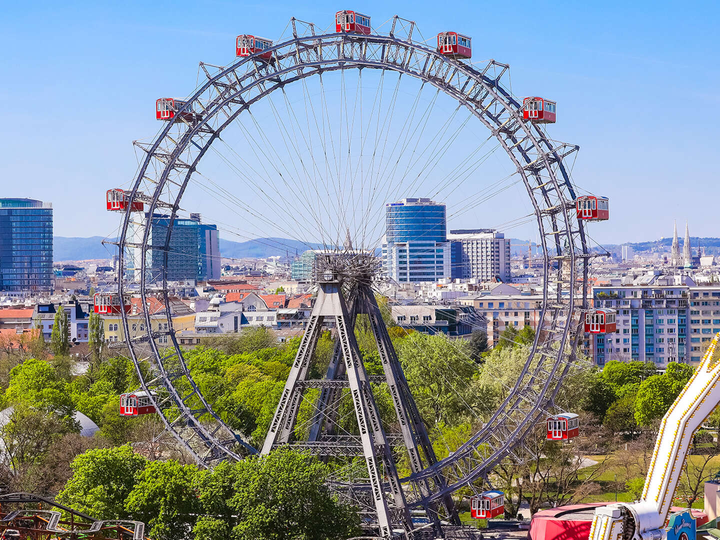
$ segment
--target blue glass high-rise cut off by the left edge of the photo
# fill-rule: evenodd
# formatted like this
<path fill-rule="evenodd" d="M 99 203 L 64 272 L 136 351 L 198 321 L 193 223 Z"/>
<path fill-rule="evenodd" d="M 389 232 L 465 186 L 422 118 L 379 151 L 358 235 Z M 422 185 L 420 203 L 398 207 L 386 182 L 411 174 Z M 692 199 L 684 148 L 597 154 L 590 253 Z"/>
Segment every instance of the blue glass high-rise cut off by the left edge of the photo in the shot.
<path fill-rule="evenodd" d="M 53 291 L 53 207 L 0 199 L 0 291 Z"/>

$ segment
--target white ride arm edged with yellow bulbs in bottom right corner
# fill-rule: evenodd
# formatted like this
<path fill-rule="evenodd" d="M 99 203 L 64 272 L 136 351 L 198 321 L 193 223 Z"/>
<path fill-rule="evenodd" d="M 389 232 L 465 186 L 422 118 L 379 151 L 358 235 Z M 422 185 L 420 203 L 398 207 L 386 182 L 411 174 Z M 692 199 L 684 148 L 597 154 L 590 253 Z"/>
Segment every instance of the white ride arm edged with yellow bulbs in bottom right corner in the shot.
<path fill-rule="evenodd" d="M 693 377 L 660 423 L 642 497 L 636 503 L 616 503 L 595 510 L 590 540 L 693 540 L 694 520 L 667 526 L 675 487 L 683 472 L 693 433 L 720 402 L 720 350 L 715 336 Z M 675 530 L 678 529 L 678 530 Z M 687 529 L 678 534 L 681 529 Z M 670 534 L 669 534 L 670 533 Z"/>

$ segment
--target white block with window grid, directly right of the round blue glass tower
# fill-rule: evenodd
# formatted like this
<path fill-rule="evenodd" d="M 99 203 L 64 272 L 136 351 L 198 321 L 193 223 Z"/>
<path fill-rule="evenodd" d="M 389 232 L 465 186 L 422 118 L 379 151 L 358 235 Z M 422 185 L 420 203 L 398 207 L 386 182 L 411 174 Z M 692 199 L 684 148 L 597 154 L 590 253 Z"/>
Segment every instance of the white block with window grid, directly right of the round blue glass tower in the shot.
<path fill-rule="evenodd" d="M 494 229 L 451 230 L 453 277 L 509 282 L 510 238 Z"/>

